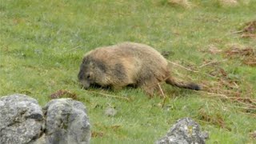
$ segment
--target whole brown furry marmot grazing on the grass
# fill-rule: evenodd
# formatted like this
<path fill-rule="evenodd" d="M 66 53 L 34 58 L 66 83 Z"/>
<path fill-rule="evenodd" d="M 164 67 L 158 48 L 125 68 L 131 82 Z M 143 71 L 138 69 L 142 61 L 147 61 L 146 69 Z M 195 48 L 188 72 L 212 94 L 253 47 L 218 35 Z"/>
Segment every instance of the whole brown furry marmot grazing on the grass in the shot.
<path fill-rule="evenodd" d="M 151 46 L 134 42 L 122 42 L 88 52 L 82 60 L 78 80 L 84 88 L 92 85 L 110 87 L 113 90 L 125 86 L 140 87 L 152 96 L 159 91 L 158 82 L 172 86 L 200 90 L 200 86 L 175 82 L 170 76 L 166 58 Z"/>

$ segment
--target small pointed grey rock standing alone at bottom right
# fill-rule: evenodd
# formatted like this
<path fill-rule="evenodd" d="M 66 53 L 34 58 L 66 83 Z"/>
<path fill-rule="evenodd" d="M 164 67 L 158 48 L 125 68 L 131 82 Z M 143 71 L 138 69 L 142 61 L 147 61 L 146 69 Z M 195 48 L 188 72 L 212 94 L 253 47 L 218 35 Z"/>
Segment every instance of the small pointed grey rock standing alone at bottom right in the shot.
<path fill-rule="evenodd" d="M 197 122 L 194 122 L 191 118 L 179 119 L 174 126 L 170 128 L 170 131 L 165 137 L 161 138 L 156 144 L 190 144 L 206 143 L 208 134 L 200 131 L 200 126 Z"/>

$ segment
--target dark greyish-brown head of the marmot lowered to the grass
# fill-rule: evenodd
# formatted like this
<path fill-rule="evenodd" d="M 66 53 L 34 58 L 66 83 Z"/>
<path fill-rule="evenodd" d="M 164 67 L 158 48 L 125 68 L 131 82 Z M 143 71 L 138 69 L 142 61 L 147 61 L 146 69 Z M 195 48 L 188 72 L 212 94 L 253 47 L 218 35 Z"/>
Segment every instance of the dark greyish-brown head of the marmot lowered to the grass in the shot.
<path fill-rule="evenodd" d="M 78 80 L 85 89 L 89 88 L 91 85 L 102 86 L 102 84 L 105 83 L 103 82 L 105 73 L 106 65 L 104 62 L 87 55 L 82 60 Z"/>

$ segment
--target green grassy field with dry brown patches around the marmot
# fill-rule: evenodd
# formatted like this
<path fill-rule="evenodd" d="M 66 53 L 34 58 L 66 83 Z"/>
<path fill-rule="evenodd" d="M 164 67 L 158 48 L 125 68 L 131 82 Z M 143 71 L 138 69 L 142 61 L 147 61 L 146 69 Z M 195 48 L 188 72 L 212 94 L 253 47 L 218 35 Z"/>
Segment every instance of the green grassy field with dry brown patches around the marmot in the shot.
<path fill-rule="evenodd" d="M 58 90 L 76 94 L 90 116 L 91 143 L 154 143 L 184 117 L 209 132 L 207 143 L 254 143 L 256 39 L 238 31 L 256 20 L 256 1 L 246 2 L 0 0 L 0 95 L 27 94 L 44 106 Z M 138 89 L 82 90 L 83 55 L 125 41 L 169 51 L 175 77 L 203 91 L 162 85 L 163 102 Z M 107 117 L 108 107 L 118 114 Z"/>

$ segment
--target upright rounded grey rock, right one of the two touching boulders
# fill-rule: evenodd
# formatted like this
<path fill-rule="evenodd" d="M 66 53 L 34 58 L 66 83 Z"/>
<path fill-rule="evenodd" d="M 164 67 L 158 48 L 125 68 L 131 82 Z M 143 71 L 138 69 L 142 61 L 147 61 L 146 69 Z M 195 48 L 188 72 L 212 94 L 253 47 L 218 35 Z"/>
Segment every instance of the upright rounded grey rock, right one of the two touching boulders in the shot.
<path fill-rule="evenodd" d="M 51 100 L 46 111 L 46 143 L 87 144 L 90 142 L 90 123 L 82 102 L 71 98 Z"/>

